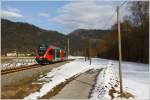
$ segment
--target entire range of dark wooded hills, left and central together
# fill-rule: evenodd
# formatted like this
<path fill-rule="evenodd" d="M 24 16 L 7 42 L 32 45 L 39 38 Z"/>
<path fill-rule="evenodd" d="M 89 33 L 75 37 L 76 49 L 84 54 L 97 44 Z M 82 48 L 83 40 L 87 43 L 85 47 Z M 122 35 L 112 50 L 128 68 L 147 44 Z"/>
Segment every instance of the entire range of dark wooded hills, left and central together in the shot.
<path fill-rule="evenodd" d="M 61 48 L 67 48 L 67 38 L 70 39 L 71 54 L 81 54 L 83 41 L 89 37 L 92 43 L 101 41 L 109 30 L 77 29 L 68 35 L 57 31 L 44 30 L 23 22 L 13 22 L 1 19 L 2 54 L 17 50 L 19 52 L 34 52 L 41 43 L 48 43 Z M 76 49 L 78 48 L 78 49 Z M 83 53 L 82 53 L 83 55 Z"/>

